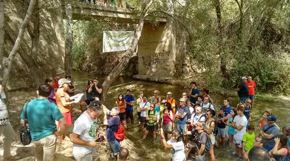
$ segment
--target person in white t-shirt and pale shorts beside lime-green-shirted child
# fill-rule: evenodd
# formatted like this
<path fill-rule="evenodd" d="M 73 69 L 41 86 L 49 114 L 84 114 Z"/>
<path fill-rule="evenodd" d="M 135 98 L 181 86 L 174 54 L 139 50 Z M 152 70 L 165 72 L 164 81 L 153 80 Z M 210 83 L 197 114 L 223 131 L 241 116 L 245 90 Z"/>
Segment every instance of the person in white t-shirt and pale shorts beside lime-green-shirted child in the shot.
<path fill-rule="evenodd" d="M 234 118 L 234 121 L 232 124 L 229 124 L 229 126 L 232 126 L 235 128 L 235 134 L 234 134 L 234 144 L 236 145 L 236 152 L 237 155 L 243 156 L 243 136 L 246 133 L 246 128 L 248 124 L 248 120 L 246 116 L 244 115 L 245 107 L 244 105 L 240 105 L 237 108 L 237 116 Z"/>

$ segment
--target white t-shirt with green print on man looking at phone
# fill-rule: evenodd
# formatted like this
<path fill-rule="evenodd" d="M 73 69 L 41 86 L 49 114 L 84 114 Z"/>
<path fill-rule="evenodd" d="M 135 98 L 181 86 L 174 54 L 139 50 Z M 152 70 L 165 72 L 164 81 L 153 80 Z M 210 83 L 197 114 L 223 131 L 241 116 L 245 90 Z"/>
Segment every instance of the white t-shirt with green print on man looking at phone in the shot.
<path fill-rule="evenodd" d="M 98 129 L 98 120 L 92 120 L 87 112 L 83 112 L 74 124 L 73 132 L 80 135 L 80 139 L 84 141 L 92 141 L 96 138 L 96 131 Z M 73 144 L 73 154 L 89 153 L 93 151 L 93 147 Z"/>

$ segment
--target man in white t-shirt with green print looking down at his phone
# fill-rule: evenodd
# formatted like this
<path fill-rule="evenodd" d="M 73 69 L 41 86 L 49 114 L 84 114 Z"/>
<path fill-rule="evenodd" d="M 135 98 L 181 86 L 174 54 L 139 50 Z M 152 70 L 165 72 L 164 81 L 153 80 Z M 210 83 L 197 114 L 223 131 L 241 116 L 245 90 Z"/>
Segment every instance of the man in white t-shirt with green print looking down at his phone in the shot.
<path fill-rule="evenodd" d="M 73 155 L 77 161 L 91 161 L 93 159 L 93 151 L 96 150 L 94 147 L 101 143 L 96 142 L 96 139 L 103 136 L 97 131 L 97 119 L 102 113 L 102 104 L 96 101 L 88 105 L 87 110 L 76 120 L 71 141 L 73 142 Z"/>

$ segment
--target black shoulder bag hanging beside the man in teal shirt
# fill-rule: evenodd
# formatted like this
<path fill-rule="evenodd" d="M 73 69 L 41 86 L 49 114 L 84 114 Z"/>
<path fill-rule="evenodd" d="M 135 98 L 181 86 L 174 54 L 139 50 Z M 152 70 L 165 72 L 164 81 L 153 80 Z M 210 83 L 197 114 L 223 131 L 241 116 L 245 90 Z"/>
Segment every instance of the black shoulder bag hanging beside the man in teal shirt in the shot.
<path fill-rule="evenodd" d="M 29 145 L 30 142 L 31 142 L 31 134 L 30 134 L 30 131 L 29 131 L 29 127 L 26 126 L 26 123 L 27 123 L 27 105 L 28 105 L 29 101 L 26 103 L 25 107 L 24 107 L 24 110 L 25 110 L 25 113 L 24 113 L 24 125 L 22 125 L 22 130 L 21 130 L 21 133 L 20 133 L 20 139 L 21 139 L 21 142 L 23 145 Z"/>

